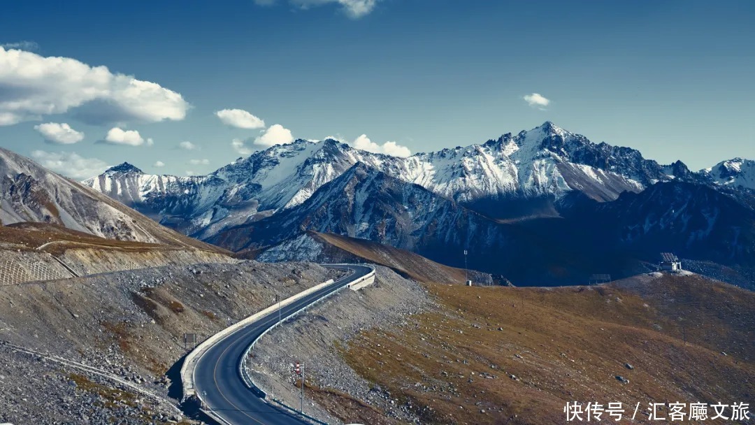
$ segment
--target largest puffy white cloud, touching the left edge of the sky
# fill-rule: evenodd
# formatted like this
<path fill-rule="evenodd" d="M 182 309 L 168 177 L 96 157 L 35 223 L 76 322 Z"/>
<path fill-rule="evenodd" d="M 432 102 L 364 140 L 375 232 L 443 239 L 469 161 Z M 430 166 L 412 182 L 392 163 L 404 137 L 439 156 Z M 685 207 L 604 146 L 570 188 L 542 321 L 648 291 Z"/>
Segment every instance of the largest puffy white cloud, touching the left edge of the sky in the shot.
<path fill-rule="evenodd" d="M 73 110 L 92 124 L 181 120 L 190 105 L 175 91 L 69 57 L 0 47 L 0 125 Z"/>

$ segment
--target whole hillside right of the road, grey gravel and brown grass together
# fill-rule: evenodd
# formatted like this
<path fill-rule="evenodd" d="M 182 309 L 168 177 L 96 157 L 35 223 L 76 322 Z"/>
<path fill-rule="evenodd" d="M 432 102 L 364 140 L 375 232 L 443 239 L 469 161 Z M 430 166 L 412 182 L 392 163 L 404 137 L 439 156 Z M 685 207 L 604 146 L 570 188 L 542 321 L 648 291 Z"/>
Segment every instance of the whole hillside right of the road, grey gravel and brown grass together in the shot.
<path fill-rule="evenodd" d="M 277 328 L 255 347 L 255 376 L 294 402 L 285 365 L 304 362 L 319 408 L 305 406 L 330 423 L 322 408 L 344 423 L 525 425 L 567 423 L 575 401 L 621 402 L 629 416 L 639 402 L 633 423 L 652 423 L 652 402 L 752 403 L 750 291 L 661 273 L 592 287 L 415 285 L 378 276 Z"/>

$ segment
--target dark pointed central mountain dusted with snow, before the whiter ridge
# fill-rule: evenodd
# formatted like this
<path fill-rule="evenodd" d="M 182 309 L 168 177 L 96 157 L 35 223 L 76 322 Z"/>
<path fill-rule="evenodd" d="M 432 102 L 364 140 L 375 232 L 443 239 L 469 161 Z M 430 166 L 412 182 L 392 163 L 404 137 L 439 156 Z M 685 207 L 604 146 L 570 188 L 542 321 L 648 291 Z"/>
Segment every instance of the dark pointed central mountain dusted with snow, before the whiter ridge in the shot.
<path fill-rule="evenodd" d="M 235 251 L 263 248 L 306 230 L 369 239 L 415 251 L 462 246 L 470 236 L 495 234 L 497 223 L 424 187 L 358 162 L 304 203 L 209 239 Z M 483 228 L 488 230 L 482 230 Z M 488 242 L 500 241 L 492 237 Z M 477 241 L 481 246 L 485 243 Z"/>

